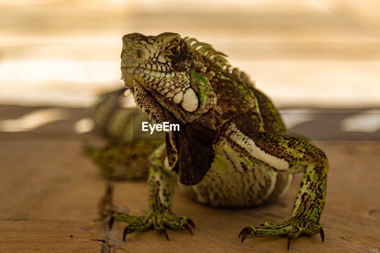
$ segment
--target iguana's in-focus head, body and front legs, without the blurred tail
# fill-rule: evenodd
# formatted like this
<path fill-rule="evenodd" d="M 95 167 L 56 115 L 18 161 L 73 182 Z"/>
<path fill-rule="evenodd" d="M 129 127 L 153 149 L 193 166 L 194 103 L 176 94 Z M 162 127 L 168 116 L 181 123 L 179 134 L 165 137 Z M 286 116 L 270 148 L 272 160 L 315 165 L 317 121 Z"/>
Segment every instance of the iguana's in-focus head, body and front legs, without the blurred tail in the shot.
<path fill-rule="evenodd" d="M 116 212 L 111 218 L 110 224 L 130 224 L 123 240 L 152 227 L 168 240 L 165 228 L 192 233 L 193 221 L 171 210 L 176 181 L 182 193 L 202 204 L 251 207 L 279 199 L 293 174 L 302 172 L 291 217 L 247 226 L 239 237 L 243 242 L 249 235 L 286 235 L 288 249 L 302 234 L 320 233 L 323 242 L 319 220 L 328 158 L 310 142 L 288 134 L 272 101 L 249 76 L 210 44 L 177 33 L 130 33 L 122 41 L 127 93 L 133 93 L 138 108 L 154 123 L 180 125 L 150 155 L 149 211 L 141 217 Z"/>

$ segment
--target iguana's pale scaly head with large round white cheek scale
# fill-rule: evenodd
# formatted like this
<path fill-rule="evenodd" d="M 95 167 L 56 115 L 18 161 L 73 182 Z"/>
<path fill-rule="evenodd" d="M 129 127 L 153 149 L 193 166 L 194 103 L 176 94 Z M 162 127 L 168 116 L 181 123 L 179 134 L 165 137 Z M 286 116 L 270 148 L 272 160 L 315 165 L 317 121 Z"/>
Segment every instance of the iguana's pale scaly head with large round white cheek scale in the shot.
<path fill-rule="evenodd" d="M 190 86 L 188 55 L 186 42 L 177 33 L 123 36 L 122 77 L 137 106 L 149 117 L 159 122 L 170 121 L 169 111 L 185 123 L 192 120 L 194 113 L 204 111 L 199 108 L 198 95 Z"/>

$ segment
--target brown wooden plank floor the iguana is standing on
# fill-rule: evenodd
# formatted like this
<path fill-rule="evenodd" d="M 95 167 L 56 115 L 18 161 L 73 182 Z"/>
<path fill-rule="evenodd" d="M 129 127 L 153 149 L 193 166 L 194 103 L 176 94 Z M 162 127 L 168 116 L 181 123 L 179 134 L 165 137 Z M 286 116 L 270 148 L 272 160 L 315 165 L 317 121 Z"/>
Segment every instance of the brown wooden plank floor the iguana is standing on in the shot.
<path fill-rule="evenodd" d="M 0 120 L 35 109 L 1 107 Z M 109 231 L 99 213 L 114 206 L 131 215 L 144 214 L 147 185 L 113 182 L 105 198 L 108 182 L 82 152 L 84 142 L 100 145 L 104 140 L 72 130 L 84 115 L 84 109 L 72 109 L 66 120 L 33 131 L 0 132 L 0 252 L 286 252 L 286 237 L 248 237 L 242 244 L 237 235 L 245 226 L 287 219 L 301 175 L 279 201 L 251 209 L 214 209 L 176 191 L 173 211 L 194 221 L 193 235 L 168 229 L 168 242 L 149 230 L 128 234 L 123 242 L 126 224 L 115 223 Z M 291 242 L 290 251 L 379 252 L 380 142 L 316 144 L 330 160 L 321 218 L 325 242 L 318 235 L 301 236 Z"/>

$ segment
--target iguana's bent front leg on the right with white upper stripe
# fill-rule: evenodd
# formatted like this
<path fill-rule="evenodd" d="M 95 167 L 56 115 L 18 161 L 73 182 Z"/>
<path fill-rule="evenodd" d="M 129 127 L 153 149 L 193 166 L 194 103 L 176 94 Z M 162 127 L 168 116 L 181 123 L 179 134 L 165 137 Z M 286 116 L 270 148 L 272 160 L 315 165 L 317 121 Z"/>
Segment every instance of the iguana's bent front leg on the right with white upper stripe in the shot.
<path fill-rule="evenodd" d="M 290 241 L 297 236 L 320 233 L 323 242 L 324 232 L 319 220 L 326 202 L 329 164 L 325 153 L 310 142 L 285 134 L 256 133 L 251 137 L 255 142 L 255 158 L 268 163 L 276 172 L 303 172 L 304 175 L 291 217 L 280 223 L 266 222 L 260 226 L 246 227 L 239 234 L 241 241 L 249 235 L 286 235 L 289 250 Z"/>

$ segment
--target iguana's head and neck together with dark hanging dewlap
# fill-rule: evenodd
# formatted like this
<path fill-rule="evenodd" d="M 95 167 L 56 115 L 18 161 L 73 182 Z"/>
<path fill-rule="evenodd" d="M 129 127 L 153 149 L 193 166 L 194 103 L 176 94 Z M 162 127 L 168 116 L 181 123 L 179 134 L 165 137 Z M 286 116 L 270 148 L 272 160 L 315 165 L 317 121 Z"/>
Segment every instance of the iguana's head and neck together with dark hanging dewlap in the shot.
<path fill-rule="evenodd" d="M 224 56 L 177 33 L 123 36 L 122 77 L 138 108 L 159 123 L 182 123 L 166 134 L 166 154 L 185 185 L 211 168 L 223 123 L 256 106 L 249 78 Z"/>

